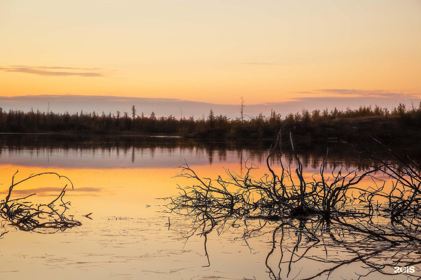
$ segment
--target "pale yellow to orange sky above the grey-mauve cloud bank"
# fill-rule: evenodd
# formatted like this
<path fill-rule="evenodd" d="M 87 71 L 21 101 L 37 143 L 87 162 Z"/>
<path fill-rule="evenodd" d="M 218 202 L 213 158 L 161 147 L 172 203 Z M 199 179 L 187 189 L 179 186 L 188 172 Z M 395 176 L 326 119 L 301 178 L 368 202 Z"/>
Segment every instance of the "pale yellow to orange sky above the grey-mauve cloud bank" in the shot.
<path fill-rule="evenodd" d="M 419 0 L 1 0 L 0 95 L 420 96 L 420 15 Z"/>

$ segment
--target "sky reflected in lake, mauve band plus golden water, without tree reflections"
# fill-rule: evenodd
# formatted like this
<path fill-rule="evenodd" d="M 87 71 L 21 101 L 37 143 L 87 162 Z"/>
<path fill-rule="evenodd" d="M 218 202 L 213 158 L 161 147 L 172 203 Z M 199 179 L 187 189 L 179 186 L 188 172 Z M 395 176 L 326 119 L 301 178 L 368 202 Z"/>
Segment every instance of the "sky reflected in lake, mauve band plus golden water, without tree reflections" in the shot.
<path fill-rule="evenodd" d="M 184 178 L 172 178 L 176 167 L 186 160 L 196 165 L 197 174 L 206 178 L 224 175 L 229 168 L 241 173 L 242 159 L 249 159 L 260 165 L 257 175 L 266 172 L 264 168 L 267 150 L 240 148 L 212 148 L 211 146 L 190 147 L 101 147 L 63 148 L 57 145 L 48 147 L 3 146 L 0 154 L 0 185 L 3 196 L 16 170 L 16 178 L 26 178 L 32 173 L 57 172 L 69 177 L 75 191 L 67 191 L 66 197 L 72 201 L 69 214 L 83 222 L 79 228 L 63 233 L 34 234 L 17 232 L 6 225 L 9 233 L 0 239 L 0 277 L 7 279 L 269 279 L 265 259 L 269 267 L 278 273 L 282 269 L 282 279 L 302 279 L 310 277 L 331 266 L 329 263 L 311 259 L 301 259 L 291 267 L 288 277 L 288 264 L 280 264 L 280 241 L 283 233 L 272 235 L 275 224 L 266 227 L 267 232 L 256 233 L 247 240 L 242 239 L 244 228 L 228 228 L 221 234 L 214 230 L 208 235 L 207 250 L 210 267 L 204 252 L 203 236 L 193 235 L 185 243 L 190 220 L 169 215 L 171 227 L 168 230 L 168 214 L 162 213 L 167 202 L 157 198 L 177 194 L 177 184 L 191 185 Z M 334 165 L 338 158 L 332 153 Z M 317 172 L 323 157 L 307 152 L 302 161 L 306 175 Z M 276 160 L 271 159 L 274 163 Z M 353 166 L 354 162 L 346 159 Z M 211 164 L 211 166 L 210 166 Z M 293 165 L 294 166 L 294 165 Z M 146 168 L 147 167 L 147 168 Z M 257 176 L 258 177 L 258 176 Z M 54 176 L 45 180 L 31 181 L 16 189 L 14 195 L 21 196 L 36 192 L 37 199 L 51 201 L 60 191 L 62 180 Z M 370 182 L 363 182 L 364 184 Z M 33 203 L 37 203 L 33 198 Z M 66 200 L 67 201 L 67 200 Z M 83 217 L 93 212 L 93 220 Z M 240 221 L 235 221 L 242 224 Z M 261 221 L 253 223 L 260 225 Z M 248 224 L 250 226 L 250 224 Z M 257 225 L 256 225 L 257 226 Z M 285 232 L 286 234 L 287 232 Z M 275 243 L 272 241 L 275 240 Z M 283 244 L 294 246 L 295 232 L 284 239 Z M 273 244 L 276 246 L 273 247 Z M 324 256 L 323 243 L 311 246 L 310 254 Z M 327 244 L 328 254 L 333 258 L 347 259 L 353 254 L 344 248 Z M 288 247 L 287 246 L 287 247 Z M 329 247 L 330 246 L 330 247 Z M 300 247 L 298 253 L 308 246 Z M 291 249 L 291 248 L 290 248 Z M 286 257 L 286 252 L 283 252 Z M 347 278 L 361 274 L 361 263 L 344 266 L 331 275 L 330 279 Z M 393 271 L 390 271 L 393 273 Z M 301 273 L 301 274 L 300 274 Z M 300 274 L 299 277 L 297 275 Z M 372 274 L 363 279 L 378 279 Z M 301 278 L 300 278 L 301 277 Z M 315 279 L 325 279 L 320 277 Z M 382 276 L 382 279 L 406 279 L 404 275 Z"/>

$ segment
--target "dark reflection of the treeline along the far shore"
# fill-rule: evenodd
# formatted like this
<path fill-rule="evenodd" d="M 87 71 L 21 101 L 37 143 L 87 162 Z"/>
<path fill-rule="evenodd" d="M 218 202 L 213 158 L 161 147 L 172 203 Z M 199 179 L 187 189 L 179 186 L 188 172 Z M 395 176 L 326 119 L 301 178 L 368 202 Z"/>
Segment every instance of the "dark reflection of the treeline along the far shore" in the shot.
<path fill-rule="evenodd" d="M 24 134 L 2 135 L 0 152 L 10 153 L 31 149 L 35 155 L 60 149 L 64 153 L 77 151 L 78 154 L 101 154 L 102 156 L 123 154 L 130 155 L 132 161 L 136 157 L 148 154 L 154 156 L 161 150 L 170 155 L 190 154 L 208 157 L 209 162 L 215 162 L 216 154 L 220 162 L 236 159 L 237 162 L 248 160 L 255 164 L 264 164 L 272 140 L 261 141 L 195 141 L 193 139 L 141 137 L 141 136 L 96 136 L 96 135 L 55 135 L 55 134 Z M 339 162 L 347 168 L 367 169 L 369 162 L 358 160 L 352 154 L 356 151 L 349 145 L 340 143 L 311 143 L 296 145 L 304 168 L 317 169 L 323 162 L 326 147 L 330 147 L 330 156 L 326 163 L 327 169 L 332 169 Z M 291 155 L 290 147 L 285 147 L 285 155 Z M 301 148 L 301 149 L 300 149 Z M 270 159 L 271 164 L 279 165 L 277 157 Z M 211 162 L 210 162 L 211 163 Z M 241 165 L 242 167 L 242 165 Z"/>

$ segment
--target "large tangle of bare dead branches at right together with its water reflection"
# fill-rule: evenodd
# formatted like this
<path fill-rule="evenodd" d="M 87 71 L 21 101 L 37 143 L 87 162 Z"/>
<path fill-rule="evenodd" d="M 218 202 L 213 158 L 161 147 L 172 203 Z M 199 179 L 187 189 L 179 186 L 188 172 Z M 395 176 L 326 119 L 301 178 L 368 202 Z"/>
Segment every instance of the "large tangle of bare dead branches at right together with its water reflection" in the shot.
<path fill-rule="evenodd" d="M 420 263 L 421 253 L 418 165 L 380 144 L 380 152 L 360 149 L 366 169 L 350 170 L 338 163 L 327 172 L 326 154 L 320 173 L 308 179 L 292 137 L 290 144 L 293 152 L 284 153 L 277 141 L 266 158 L 268 173 L 258 179 L 251 175 L 257 168 L 253 164 L 245 164 L 244 175 L 226 170 L 228 179 L 215 180 L 199 177 L 187 164 L 181 166 L 179 176 L 194 183 L 166 198 L 169 212 L 193 220 L 190 236 L 204 237 L 206 256 L 207 237 L 213 231 L 241 227 L 247 245 L 250 238 L 271 235 L 272 249 L 265 262 L 271 279 L 314 279 L 335 273 L 338 278 L 344 269 L 347 274 L 354 269 L 351 274 L 360 279 L 373 273 L 395 275 L 395 267 L 403 266 L 408 271 L 400 272 L 416 279 L 418 270 L 412 266 Z M 278 173 L 270 163 L 273 156 L 279 160 Z M 389 177 L 392 189 L 386 191 L 386 182 L 376 174 Z M 360 186 L 362 179 L 370 179 L 370 186 Z M 322 264 L 323 269 L 307 275 L 309 270 L 296 271 L 300 262 L 301 267 Z"/>

